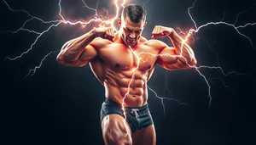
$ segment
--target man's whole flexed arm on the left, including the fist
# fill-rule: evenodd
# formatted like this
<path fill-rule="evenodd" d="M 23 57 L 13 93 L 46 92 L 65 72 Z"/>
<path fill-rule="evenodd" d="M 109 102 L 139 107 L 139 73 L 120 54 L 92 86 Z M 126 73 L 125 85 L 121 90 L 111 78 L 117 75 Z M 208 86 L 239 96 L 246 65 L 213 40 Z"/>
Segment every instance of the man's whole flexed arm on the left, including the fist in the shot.
<path fill-rule="evenodd" d="M 113 29 L 96 28 L 66 42 L 57 56 L 57 61 L 66 66 L 84 66 L 98 55 L 96 48 L 102 45 L 102 41 L 95 39 L 96 36 L 111 40 Z"/>

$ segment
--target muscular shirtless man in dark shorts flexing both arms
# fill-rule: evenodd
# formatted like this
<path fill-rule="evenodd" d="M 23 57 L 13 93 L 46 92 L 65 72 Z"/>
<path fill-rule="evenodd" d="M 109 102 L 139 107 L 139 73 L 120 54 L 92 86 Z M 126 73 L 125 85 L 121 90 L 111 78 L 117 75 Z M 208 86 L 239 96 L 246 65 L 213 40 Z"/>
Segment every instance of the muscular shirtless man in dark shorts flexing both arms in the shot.
<path fill-rule="evenodd" d="M 111 27 L 101 27 L 66 42 L 57 61 L 67 66 L 89 63 L 105 86 L 101 124 L 107 145 L 154 145 L 154 123 L 147 103 L 147 82 L 154 66 L 189 69 L 196 64 L 195 55 L 172 28 L 157 25 L 151 40 L 141 36 L 147 25 L 146 11 L 137 4 L 123 9 L 118 25 L 115 33 Z M 164 36 L 173 47 L 154 39 Z"/>

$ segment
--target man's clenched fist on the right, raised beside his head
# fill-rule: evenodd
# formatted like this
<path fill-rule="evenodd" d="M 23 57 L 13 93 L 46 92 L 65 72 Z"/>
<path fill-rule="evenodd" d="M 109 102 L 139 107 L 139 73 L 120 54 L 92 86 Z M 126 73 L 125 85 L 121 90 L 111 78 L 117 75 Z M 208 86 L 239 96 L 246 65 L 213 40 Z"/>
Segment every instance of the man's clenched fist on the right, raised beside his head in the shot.
<path fill-rule="evenodd" d="M 174 31 L 172 28 L 156 25 L 154 26 L 154 30 L 152 31 L 151 38 L 154 39 L 156 37 L 165 37 L 172 34 L 172 31 Z"/>

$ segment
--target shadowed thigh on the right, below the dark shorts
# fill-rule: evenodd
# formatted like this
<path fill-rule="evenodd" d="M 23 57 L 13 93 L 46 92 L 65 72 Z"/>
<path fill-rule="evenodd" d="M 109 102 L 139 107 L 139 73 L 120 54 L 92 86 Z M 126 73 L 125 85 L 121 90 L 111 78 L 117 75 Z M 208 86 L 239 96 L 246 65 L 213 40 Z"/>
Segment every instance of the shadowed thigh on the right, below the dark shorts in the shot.
<path fill-rule="evenodd" d="M 154 131 L 154 125 L 149 125 L 140 131 L 134 132 L 132 135 L 133 145 L 155 145 L 156 136 Z"/>

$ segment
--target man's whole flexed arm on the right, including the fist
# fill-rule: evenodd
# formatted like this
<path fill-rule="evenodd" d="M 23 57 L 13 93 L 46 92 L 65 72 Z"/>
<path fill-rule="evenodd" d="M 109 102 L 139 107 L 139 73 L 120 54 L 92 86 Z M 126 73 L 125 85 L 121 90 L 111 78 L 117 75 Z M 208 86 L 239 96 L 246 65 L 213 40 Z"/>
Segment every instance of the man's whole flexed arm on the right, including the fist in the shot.
<path fill-rule="evenodd" d="M 173 47 L 160 44 L 162 49 L 157 63 L 166 70 L 190 69 L 196 64 L 194 51 L 172 28 L 155 26 L 152 35 L 152 38 L 168 36 L 172 41 Z"/>

